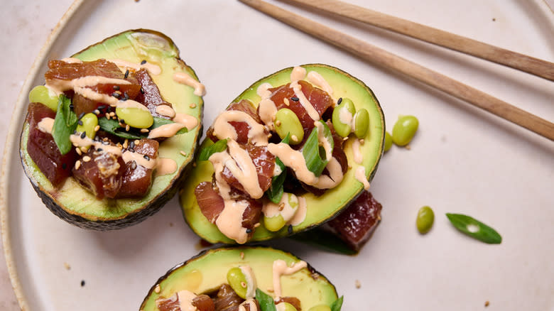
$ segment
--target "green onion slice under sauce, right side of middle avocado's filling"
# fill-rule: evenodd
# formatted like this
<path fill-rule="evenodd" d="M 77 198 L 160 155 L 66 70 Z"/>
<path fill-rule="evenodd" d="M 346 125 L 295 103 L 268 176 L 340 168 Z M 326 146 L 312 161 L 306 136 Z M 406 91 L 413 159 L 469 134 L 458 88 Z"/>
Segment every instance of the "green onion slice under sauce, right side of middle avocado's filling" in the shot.
<path fill-rule="evenodd" d="M 330 144 L 331 152 L 332 148 L 335 146 L 335 141 L 333 141 L 331 130 L 325 122 L 321 121 L 323 124 L 323 136 Z M 317 126 L 312 130 L 308 139 L 302 147 L 302 154 L 306 160 L 306 166 L 310 172 L 314 173 L 315 176 L 320 176 L 329 160 L 327 160 L 327 155 L 325 155 L 325 148 L 320 146 L 320 142 L 317 137 L 318 131 Z"/>

